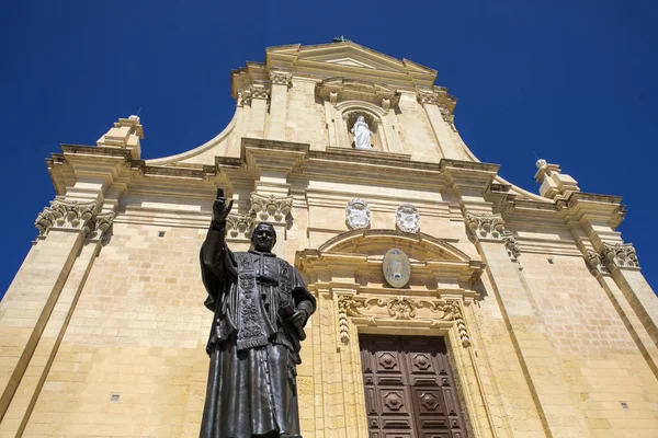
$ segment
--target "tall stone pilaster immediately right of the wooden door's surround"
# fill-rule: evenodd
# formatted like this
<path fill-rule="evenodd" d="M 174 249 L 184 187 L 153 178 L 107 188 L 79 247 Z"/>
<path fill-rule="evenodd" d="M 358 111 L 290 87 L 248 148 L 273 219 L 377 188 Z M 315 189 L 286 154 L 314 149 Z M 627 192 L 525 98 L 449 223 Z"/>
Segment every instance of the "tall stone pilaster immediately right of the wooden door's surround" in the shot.
<path fill-rule="evenodd" d="M 500 215 L 495 215 L 491 205 L 484 199 L 484 193 L 494 176 L 490 180 L 485 177 L 484 164 L 442 161 L 442 168 L 453 183 L 465 222 L 487 265 L 488 278 L 534 400 L 536 413 L 529 418 L 529 427 L 537 436 L 588 436 L 583 413 L 574 404 L 565 403 L 572 391 L 560 359 L 546 335 L 532 292 L 517 265 L 510 261 L 509 241 L 506 240 L 509 232 L 504 229 L 504 220 Z"/>

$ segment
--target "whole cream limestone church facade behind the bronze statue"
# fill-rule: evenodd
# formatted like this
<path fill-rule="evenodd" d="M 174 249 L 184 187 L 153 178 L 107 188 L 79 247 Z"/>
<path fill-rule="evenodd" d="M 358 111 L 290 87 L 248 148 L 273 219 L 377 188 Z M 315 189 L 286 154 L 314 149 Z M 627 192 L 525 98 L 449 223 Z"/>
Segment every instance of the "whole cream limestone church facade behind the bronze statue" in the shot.
<path fill-rule="evenodd" d="M 57 193 L 0 303 L 0 436 L 195 437 L 212 313 L 198 251 L 254 226 L 317 299 L 305 438 L 655 437 L 658 299 L 616 196 L 480 162 L 436 71 L 351 42 L 231 73 L 228 126 L 141 160 L 139 117 L 47 160 Z"/>

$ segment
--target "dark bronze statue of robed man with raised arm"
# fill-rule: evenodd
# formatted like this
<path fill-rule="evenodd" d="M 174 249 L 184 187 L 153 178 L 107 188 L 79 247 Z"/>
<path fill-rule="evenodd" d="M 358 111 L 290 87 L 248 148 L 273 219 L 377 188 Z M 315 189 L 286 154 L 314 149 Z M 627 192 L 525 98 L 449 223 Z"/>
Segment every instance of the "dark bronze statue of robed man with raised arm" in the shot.
<path fill-rule="evenodd" d="M 214 312 L 202 438 L 302 437 L 296 365 L 304 325 L 316 309 L 297 269 L 272 254 L 276 232 L 259 223 L 252 250 L 225 243 L 222 191 L 201 247 L 201 272 Z"/>

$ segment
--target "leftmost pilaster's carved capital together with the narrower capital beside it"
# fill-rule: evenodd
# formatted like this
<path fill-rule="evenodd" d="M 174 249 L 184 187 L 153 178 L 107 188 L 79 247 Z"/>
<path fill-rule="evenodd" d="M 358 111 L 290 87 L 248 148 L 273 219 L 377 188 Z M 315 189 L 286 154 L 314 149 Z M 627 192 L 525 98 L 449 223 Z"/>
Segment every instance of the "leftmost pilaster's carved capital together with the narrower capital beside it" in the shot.
<path fill-rule="evenodd" d="M 112 226 L 114 212 L 97 214 L 95 201 L 55 199 L 34 221 L 38 237 L 44 239 L 50 230 L 77 230 L 90 240 L 102 240 Z"/>

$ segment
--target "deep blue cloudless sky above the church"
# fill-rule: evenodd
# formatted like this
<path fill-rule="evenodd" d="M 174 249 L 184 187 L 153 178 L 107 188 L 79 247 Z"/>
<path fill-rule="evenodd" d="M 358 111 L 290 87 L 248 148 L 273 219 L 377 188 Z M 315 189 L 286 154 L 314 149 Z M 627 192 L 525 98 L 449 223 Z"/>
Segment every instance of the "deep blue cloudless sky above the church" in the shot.
<path fill-rule="evenodd" d="M 657 18 L 634 0 L 4 2 L 0 296 L 55 196 L 44 158 L 60 143 L 95 145 L 141 108 L 143 158 L 192 149 L 232 116 L 231 69 L 343 34 L 439 70 L 462 137 L 507 180 L 536 193 L 536 153 L 623 196 L 623 238 L 658 286 Z"/>

